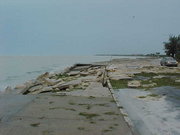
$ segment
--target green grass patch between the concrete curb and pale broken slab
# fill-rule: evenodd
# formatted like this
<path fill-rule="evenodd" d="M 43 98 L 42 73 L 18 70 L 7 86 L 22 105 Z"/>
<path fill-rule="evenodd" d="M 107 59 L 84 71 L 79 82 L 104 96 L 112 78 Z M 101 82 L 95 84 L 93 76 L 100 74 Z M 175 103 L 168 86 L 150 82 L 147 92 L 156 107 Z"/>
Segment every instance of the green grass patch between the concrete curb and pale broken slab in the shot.
<path fill-rule="evenodd" d="M 123 89 L 127 88 L 129 80 L 110 80 L 110 83 L 113 87 L 113 89 Z"/>

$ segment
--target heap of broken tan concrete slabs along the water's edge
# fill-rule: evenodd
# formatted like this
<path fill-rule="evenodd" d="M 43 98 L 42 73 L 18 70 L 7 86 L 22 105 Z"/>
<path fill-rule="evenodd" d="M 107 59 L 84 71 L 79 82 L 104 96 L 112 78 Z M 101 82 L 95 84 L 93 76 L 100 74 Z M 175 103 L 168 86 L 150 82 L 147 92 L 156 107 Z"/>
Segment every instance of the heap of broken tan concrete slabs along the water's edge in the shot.
<path fill-rule="evenodd" d="M 104 72 L 104 65 L 76 64 L 66 68 L 61 73 L 50 74 L 46 72 L 35 80 L 17 85 L 14 90 L 24 95 L 73 91 L 74 89 L 85 90 L 90 85 L 90 82 L 99 82 L 104 85 L 106 83 Z M 6 88 L 6 92 L 9 91 L 10 88 Z"/>

